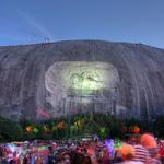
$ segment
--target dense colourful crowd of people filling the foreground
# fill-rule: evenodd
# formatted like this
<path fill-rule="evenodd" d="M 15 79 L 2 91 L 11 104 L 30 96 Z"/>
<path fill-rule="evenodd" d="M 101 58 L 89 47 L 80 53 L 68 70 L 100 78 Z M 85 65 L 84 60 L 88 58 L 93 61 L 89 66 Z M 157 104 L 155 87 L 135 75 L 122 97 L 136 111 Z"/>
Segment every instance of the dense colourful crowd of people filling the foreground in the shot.
<path fill-rule="evenodd" d="M 0 164 L 162 164 L 164 143 L 152 134 L 127 141 L 25 141 L 0 144 Z"/>

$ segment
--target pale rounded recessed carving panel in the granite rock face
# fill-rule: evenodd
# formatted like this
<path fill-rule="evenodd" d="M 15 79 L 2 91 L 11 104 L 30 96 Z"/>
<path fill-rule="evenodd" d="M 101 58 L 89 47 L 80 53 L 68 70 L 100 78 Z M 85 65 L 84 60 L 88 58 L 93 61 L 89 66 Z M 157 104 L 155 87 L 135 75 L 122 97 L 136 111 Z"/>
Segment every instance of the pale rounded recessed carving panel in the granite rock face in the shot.
<path fill-rule="evenodd" d="M 109 108 L 118 79 L 118 72 L 110 63 L 55 62 L 45 77 L 45 85 L 50 94 L 47 101 L 58 113 L 63 109 L 61 113 L 66 114 L 75 113 L 79 108 L 80 110 L 83 108 L 95 110 L 95 104 L 98 107 L 101 103 L 106 103 L 106 108 Z"/>

